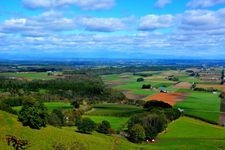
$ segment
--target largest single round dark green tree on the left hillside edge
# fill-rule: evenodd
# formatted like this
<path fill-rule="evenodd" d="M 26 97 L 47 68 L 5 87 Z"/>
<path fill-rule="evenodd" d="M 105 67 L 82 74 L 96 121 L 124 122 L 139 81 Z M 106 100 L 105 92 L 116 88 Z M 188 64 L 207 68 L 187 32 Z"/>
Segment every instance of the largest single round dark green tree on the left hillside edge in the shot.
<path fill-rule="evenodd" d="M 18 114 L 18 119 L 24 126 L 40 129 L 46 126 L 47 116 L 47 108 L 42 102 L 36 101 L 32 97 L 27 97 Z"/>

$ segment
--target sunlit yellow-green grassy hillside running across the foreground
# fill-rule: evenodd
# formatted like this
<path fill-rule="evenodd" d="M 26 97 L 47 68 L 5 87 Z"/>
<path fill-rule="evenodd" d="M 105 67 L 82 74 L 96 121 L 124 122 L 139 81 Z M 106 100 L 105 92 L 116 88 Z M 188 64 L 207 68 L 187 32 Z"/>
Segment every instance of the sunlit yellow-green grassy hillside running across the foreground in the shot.
<path fill-rule="evenodd" d="M 51 150 L 55 142 L 63 143 L 68 147 L 74 142 L 79 142 L 83 150 L 212 150 L 225 148 L 224 128 L 187 117 L 172 122 L 166 132 L 159 135 L 154 144 L 133 144 L 121 136 L 107 136 L 96 132 L 91 135 L 81 134 L 75 132 L 75 127 L 47 126 L 41 130 L 32 130 L 23 127 L 17 121 L 16 116 L 2 111 L 0 111 L 0 119 L 1 150 L 11 150 L 3 140 L 8 134 L 28 139 L 31 146 L 29 150 Z"/>

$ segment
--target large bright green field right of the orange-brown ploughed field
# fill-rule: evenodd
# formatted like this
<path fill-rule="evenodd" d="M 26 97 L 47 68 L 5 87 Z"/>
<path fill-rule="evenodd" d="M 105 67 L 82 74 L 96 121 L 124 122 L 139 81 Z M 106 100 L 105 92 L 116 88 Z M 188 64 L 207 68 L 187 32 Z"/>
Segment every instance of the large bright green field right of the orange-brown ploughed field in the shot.
<path fill-rule="evenodd" d="M 188 97 L 178 102 L 175 107 L 184 109 L 185 114 L 217 123 L 220 114 L 219 95 L 209 92 L 188 91 Z"/>

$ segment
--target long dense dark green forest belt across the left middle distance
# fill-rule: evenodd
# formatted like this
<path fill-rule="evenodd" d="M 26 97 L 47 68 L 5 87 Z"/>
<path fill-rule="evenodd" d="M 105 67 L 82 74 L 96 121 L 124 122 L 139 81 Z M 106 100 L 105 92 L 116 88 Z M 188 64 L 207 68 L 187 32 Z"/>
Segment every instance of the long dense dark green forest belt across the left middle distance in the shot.
<path fill-rule="evenodd" d="M 68 75 L 56 80 L 0 79 L 0 89 L 11 93 L 12 97 L 29 95 L 44 101 L 85 99 L 95 103 L 102 100 L 118 102 L 126 98 L 122 92 L 107 88 L 100 77 L 89 75 Z"/>

